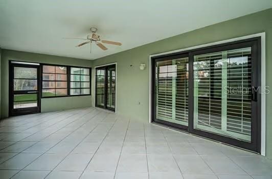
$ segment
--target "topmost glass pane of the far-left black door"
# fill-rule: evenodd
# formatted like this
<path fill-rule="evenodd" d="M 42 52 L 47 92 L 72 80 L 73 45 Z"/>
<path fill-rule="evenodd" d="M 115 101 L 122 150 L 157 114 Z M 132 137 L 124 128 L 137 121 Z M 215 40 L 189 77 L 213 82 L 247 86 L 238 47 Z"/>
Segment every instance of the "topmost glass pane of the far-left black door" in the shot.
<path fill-rule="evenodd" d="M 14 78 L 37 79 L 37 69 L 14 67 Z"/>

